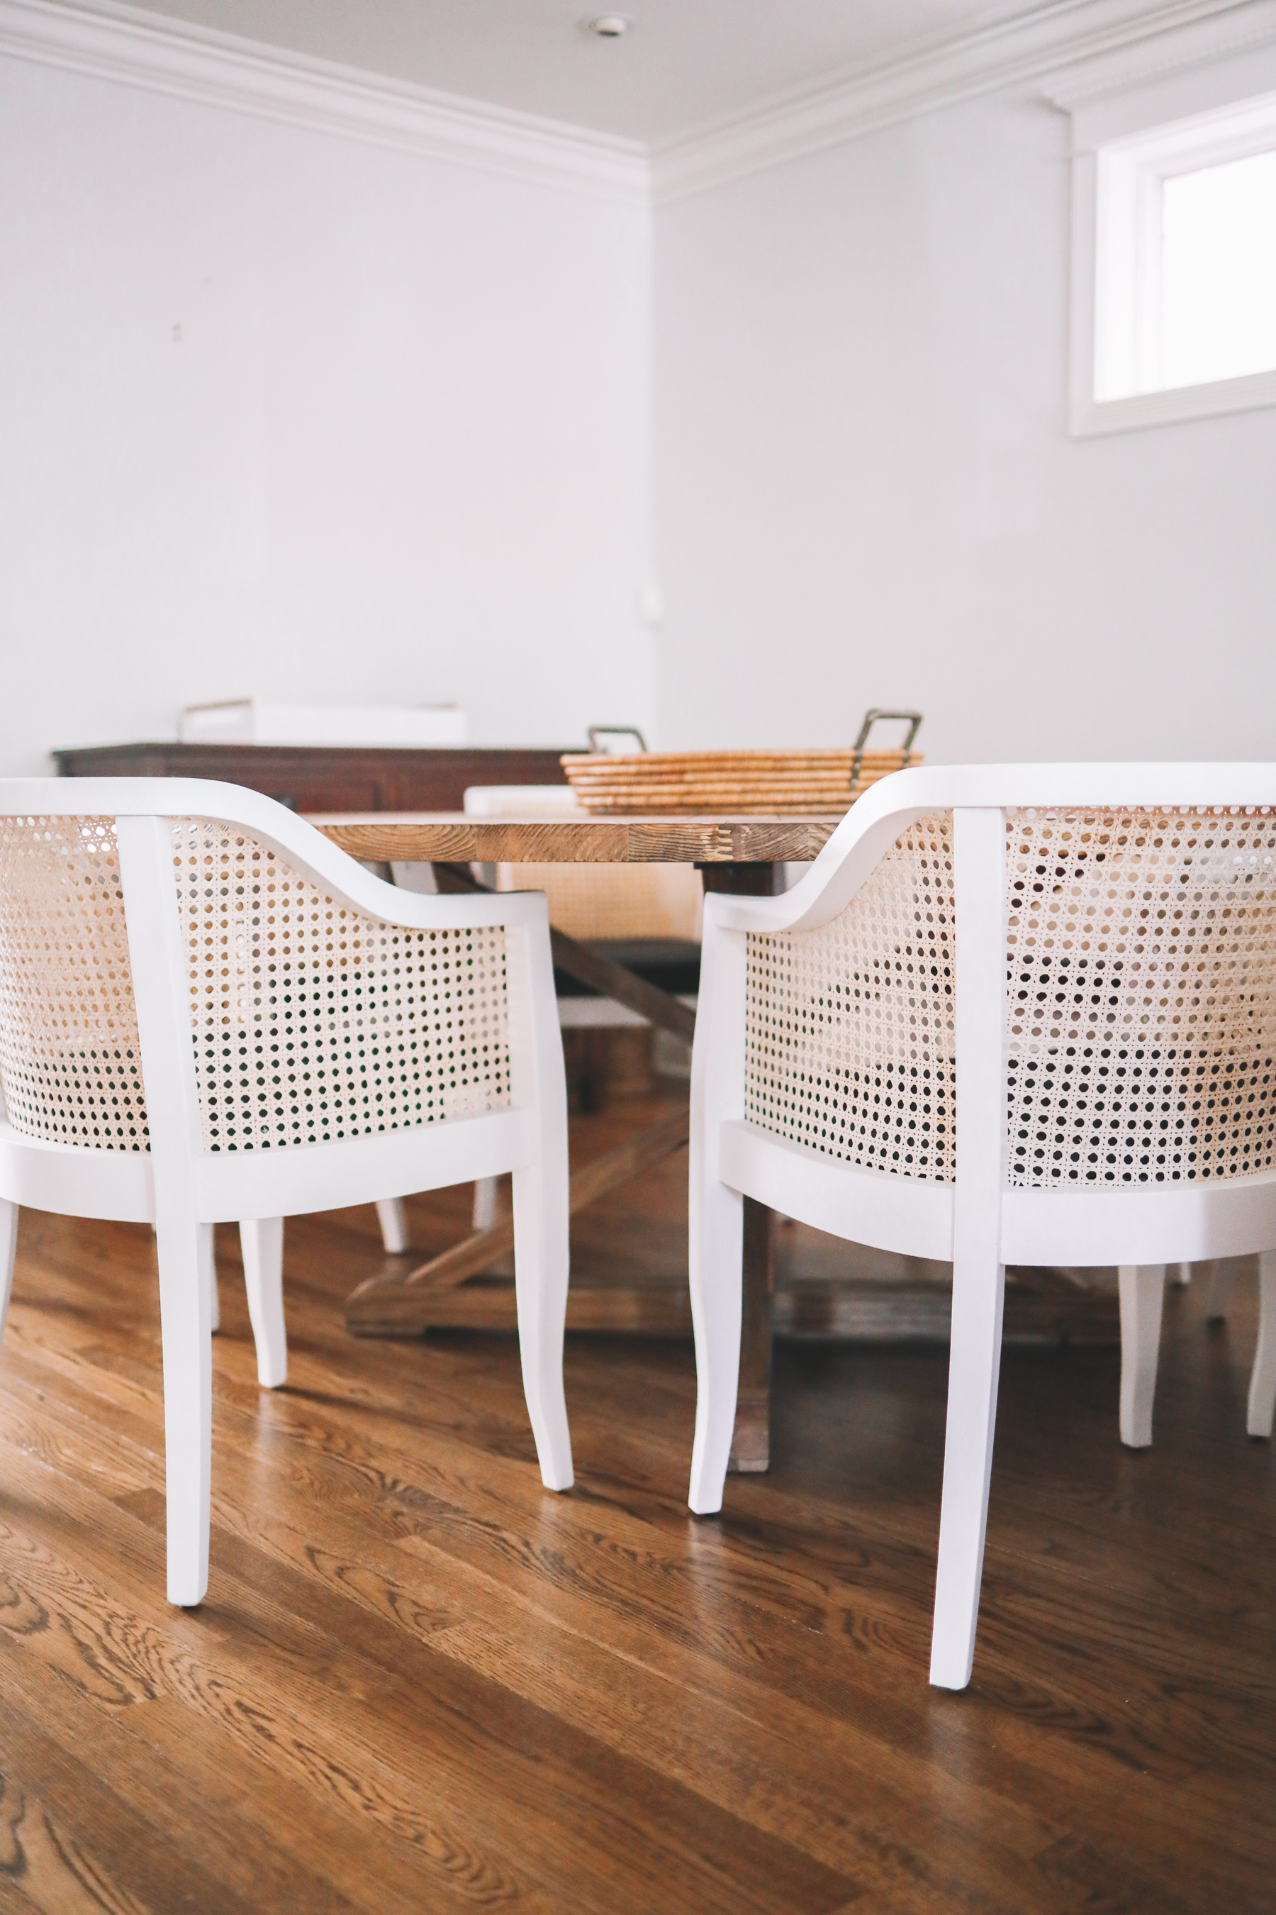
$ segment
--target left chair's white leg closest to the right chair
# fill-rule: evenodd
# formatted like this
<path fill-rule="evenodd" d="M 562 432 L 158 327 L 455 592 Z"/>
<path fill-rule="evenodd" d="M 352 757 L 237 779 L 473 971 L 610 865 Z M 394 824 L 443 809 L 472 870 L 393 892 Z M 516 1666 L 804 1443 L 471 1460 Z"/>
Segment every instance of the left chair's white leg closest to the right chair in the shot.
<path fill-rule="evenodd" d="M 562 1394 L 568 1285 L 566 1162 L 515 1170 L 518 1358 L 536 1455 L 547 1490 L 570 1490 L 572 1438 Z"/>

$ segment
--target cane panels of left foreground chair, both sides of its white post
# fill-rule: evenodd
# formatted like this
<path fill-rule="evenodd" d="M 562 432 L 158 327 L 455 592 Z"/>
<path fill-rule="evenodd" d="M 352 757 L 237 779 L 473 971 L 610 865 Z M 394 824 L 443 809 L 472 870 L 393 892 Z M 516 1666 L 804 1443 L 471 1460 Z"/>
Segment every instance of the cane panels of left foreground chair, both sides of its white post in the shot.
<path fill-rule="evenodd" d="M 172 822 L 205 1149 L 509 1107 L 505 931 L 337 904 L 235 825 Z M 115 820 L 0 820 L 0 1082 L 15 1130 L 145 1151 Z"/>

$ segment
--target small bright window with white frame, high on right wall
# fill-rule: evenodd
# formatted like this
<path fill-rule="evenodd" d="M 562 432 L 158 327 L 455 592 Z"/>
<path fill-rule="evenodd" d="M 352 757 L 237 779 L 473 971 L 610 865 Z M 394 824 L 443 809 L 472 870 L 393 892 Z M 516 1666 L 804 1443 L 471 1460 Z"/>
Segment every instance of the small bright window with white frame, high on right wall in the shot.
<path fill-rule="evenodd" d="M 1073 111 L 1073 433 L 1276 404 L 1272 79 L 1251 56 L 1054 94 Z"/>

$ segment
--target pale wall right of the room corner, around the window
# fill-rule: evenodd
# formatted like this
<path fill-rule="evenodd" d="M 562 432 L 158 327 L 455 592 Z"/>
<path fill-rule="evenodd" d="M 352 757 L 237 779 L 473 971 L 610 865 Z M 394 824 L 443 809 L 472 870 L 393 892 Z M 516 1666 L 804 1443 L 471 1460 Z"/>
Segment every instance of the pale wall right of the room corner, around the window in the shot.
<path fill-rule="evenodd" d="M 1066 435 L 1067 124 L 983 100 L 656 214 L 656 730 L 1276 749 L 1276 410 Z"/>

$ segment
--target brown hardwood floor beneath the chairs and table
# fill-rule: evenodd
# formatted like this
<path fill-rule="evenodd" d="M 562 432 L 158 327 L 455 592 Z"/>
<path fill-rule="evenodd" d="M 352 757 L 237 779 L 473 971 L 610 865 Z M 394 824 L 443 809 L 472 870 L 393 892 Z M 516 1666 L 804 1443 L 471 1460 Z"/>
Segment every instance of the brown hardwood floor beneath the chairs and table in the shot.
<path fill-rule="evenodd" d="M 583 1214 L 591 1281 L 650 1262 L 683 1176 Z M 417 1199 L 417 1249 L 467 1203 Z M 976 1676 L 943 1695 L 947 1352 L 781 1344 L 773 1469 L 696 1521 L 687 1344 L 570 1339 L 555 1498 L 511 1337 L 344 1335 L 383 1264 L 371 1210 L 289 1224 L 272 1394 L 218 1233 L 212 1572 L 182 1612 L 151 1235 L 23 1214 L 0 1909 L 1276 1909 L 1251 1283 L 1224 1327 L 1203 1283 L 1171 1289 L 1150 1453 L 1117 1444 L 1115 1350 L 1006 1348 Z"/>

